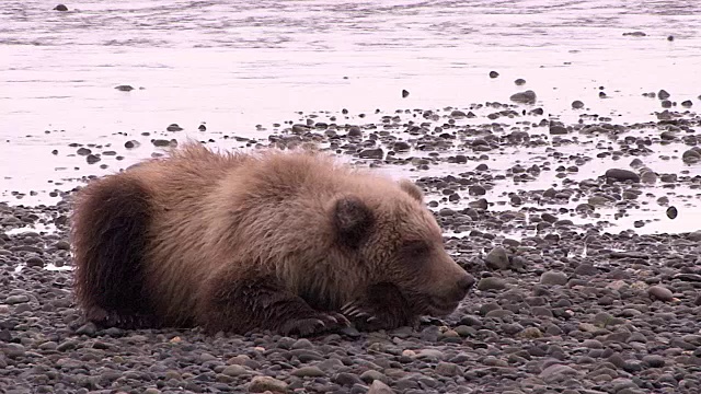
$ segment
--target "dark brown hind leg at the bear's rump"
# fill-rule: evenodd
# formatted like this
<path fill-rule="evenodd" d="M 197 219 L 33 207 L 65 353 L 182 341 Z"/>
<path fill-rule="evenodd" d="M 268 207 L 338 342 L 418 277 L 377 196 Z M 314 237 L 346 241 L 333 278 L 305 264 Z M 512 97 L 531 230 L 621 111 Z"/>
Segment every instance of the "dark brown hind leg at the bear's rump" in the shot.
<path fill-rule="evenodd" d="M 112 175 L 80 193 L 72 215 L 76 296 L 101 326 L 158 325 L 143 289 L 150 195 L 138 179 Z"/>

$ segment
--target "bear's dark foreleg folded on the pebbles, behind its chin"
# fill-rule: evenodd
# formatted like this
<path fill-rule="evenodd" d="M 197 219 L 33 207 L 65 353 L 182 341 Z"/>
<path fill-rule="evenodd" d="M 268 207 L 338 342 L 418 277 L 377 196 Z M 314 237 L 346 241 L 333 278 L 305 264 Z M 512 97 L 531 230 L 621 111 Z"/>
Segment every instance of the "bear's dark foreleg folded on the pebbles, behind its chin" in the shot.
<path fill-rule="evenodd" d="M 349 324 L 340 313 L 314 310 L 273 277 L 217 275 L 205 287 L 200 300 L 197 320 L 210 333 L 269 329 L 283 335 L 311 336 Z"/>

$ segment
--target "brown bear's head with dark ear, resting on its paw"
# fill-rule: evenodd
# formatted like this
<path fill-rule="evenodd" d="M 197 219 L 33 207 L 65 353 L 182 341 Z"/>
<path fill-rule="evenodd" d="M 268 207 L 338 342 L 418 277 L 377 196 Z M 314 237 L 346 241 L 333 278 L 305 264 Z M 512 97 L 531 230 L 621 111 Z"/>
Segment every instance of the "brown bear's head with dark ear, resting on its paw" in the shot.
<path fill-rule="evenodd" d="M 412 315 L 452 313 L 474 283 L 446 252 L 423 193 L 410 181 L 341 196 L 333 210 L 337 243 L 369 274 L 366 288 L 395 289 L 404 300 L 397 306 Z M 370 294 L 377 302 L 383 297 Z"/>

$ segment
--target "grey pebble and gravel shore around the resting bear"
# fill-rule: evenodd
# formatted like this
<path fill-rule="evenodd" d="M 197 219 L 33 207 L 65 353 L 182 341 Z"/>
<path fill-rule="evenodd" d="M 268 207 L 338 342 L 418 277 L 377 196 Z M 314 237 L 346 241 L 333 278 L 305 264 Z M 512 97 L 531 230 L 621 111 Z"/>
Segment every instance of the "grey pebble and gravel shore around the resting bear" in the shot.
<path fill-rule="evenodd" d="M 267 141 L 241 139 L 313 140 L 366 164 L 418 172 L 448 250 L 480 280 L 453 315 L 426 318 L 417 331 L 290 338 L 96 329 L 76 310 L 64 270 L 71 265 L 70 194 L 55 206 L 0 205 L 0 392 L 700 393 L 701 232 L 637 234 L 641 220 L 612 234 L 600 216 L 607 205 L 634 216 L 645 198 L 666 206 L 669 194 L 660 190 L 697 188 L 696 176 L 653 172 L 643 161 L 677 143 L 683 155 L 662 160 L 696 163 L 699 117 L 665 111 L 641 125 L 588 117 L 504 130 L 496 119 L 525 113 L 492 108 L 497 115 L 480 127 L 460 126 L 470 111 L 446 109 L 371 126 L 307 118 Z M 593 136 L 598 153 L 560 153 Z M 480 163 L 513 147 L 548 150 L 543 160 L 504 171 Z M 610 157 L 637 161 L 567 181 L 575 167 Z M 450 165 L 462 170 L 426 171 Z M 529 188 L 545 173 L 561 185 Z M 512 190 L 492 193 L 507 183 Z M 27 225 L 56 231 L 15 231 Z"/>

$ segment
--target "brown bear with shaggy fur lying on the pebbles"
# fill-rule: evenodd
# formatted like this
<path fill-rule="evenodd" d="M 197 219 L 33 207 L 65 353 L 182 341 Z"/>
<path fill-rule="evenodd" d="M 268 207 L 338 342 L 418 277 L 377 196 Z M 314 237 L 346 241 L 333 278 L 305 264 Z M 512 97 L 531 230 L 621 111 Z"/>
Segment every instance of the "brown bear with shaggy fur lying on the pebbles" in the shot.
<path fill-rule="evenodd" d="M 474 283 L 418 187 L 323 153 L 189 142 L 90 182 L 71 221 L 77 300 L 103 326 L 389 329 Z"/>

